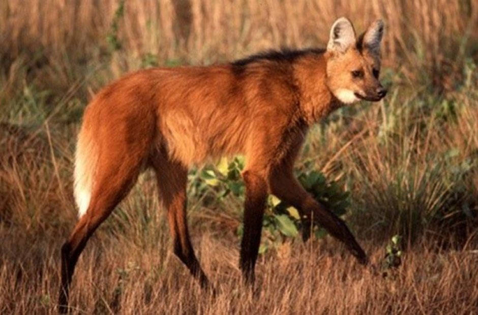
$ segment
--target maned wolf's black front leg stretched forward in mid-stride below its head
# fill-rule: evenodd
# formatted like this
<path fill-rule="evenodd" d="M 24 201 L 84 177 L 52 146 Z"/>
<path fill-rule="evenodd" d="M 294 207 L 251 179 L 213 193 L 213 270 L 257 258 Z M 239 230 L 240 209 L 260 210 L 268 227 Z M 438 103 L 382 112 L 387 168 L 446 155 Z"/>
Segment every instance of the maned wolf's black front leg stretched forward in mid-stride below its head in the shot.
<path fill-rule="evenodd" d="M 328 233 L 342 241 L 361 264 L 368 263 L 367 255 L 350 233 L 345 222 L 307 193 L 293 176 L 292 170 L 280 169 L 272 172 L 269 187 L 272 194 L 297 208 L 301 217 L 312 218 Z M 307 222 L 307 220 L 304 221 Z"/>

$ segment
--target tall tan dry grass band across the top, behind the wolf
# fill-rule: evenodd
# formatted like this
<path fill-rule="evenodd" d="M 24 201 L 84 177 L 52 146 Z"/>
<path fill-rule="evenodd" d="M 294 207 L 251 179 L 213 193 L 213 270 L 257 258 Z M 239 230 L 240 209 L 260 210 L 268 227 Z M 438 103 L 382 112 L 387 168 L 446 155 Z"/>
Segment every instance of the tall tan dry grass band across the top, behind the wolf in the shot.
<path fill-rule="evenodd" d="M 117 6 L 117 0 L 3 2 L 0 56 L 5 65 L 25 53 L 41 64 L 56 58 L 88 64 L 101 58 Z M 446 79 L 454 78 L 456 66 L 470 52 L 476 57 L 474 1 L 127 1 L 118 37 L 134 60 L 152 54 L 161 63 L 179 58 L 210 64 L 280 46 L 323 45 L 331 23 L 342 15 L 360 31 L 383 18 L 385 64 L 408 80 L 420 77 L 417 66 L 426 66 L 452 88 Z"/>

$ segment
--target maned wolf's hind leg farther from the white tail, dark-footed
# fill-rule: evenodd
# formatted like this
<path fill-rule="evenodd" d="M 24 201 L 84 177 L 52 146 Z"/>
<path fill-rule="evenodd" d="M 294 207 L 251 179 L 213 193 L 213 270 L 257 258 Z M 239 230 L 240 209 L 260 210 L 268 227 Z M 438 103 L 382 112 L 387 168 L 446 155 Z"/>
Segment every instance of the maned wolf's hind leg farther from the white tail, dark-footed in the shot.
<path fill-rule="evenodd" d="M 161 154 L 161 153 L 160 153 Z M 194 255 L 186 219 L 186 184 L 188 170 L 163 155 L 153 162 L 159 187 L 160 202 L 168 211 L 169 229 L 174 242 L 174 254 L 188 267 L 201 288 L 210 289 L 210 282 Z"/>

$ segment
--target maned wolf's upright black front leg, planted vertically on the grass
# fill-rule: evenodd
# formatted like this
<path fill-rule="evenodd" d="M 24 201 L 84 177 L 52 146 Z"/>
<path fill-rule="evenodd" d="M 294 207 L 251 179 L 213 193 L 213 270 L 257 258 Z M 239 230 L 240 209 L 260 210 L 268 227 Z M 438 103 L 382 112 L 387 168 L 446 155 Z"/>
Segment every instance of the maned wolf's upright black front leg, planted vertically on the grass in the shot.
<path fill-rule="evenodd" d="M 241 242 L 240 267 L 244 281 L 254 283 L 254 267 L 259 252 L 262 217 L 267 198 L 265 180 L 251 171 L 243 173 L 246 184 L 246 202 L 244 206 L 244 233 Z"/>

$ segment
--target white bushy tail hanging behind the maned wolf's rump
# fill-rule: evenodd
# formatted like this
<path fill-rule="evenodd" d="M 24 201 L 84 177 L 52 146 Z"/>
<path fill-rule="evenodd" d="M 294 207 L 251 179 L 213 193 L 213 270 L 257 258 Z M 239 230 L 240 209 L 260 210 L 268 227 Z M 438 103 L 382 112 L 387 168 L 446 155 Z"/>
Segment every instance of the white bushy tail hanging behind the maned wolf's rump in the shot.
<path fill-rule="evenodd" d="M 98 152 L 94 138 L 81 128 L 75 153 L 75 201 L 78 217 L 86 213 L 93 191 L 94 177 L 97 169 Z"/>

